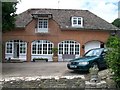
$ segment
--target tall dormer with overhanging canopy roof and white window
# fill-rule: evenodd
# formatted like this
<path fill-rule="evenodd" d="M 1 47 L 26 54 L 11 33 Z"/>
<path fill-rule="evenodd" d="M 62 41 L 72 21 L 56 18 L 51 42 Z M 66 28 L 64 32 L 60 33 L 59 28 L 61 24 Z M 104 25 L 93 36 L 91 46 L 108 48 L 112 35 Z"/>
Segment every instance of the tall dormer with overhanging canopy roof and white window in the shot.
<path fill-rule="evenodd" d="M 49 33 L 49 19 L 52 14 L 32 14 L 33 18 L 37 19 L 35 33 Z"/>

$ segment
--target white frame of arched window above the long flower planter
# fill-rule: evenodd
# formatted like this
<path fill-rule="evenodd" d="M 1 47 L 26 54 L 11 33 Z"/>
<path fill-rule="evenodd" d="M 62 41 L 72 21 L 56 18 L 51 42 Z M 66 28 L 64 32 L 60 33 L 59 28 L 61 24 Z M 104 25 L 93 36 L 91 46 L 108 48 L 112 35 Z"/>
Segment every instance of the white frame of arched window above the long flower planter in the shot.
<path fill-rule="evenodd" d="M 37 41 L 40 41 L 41 43 L 38 43 Z M 44 41 L 46 42 L 46 43 L 44 43 Z M 33 53 L 33 44 L 36 44 L 36 53 Z M 45 45 L 47 45 L 47 53 L 46 54 L 44 54 L 43 52 L 43 44 L 45 44 Z M 48 40 L 35 40 L 34 42 L 32 42 L 32 44 L 31 44 L 31 55 L 52 55 L 52 53 L 51 54 L 49 54 L 49 50 L 48 50 L 48 46 L 49 46 L 49 44 L 51 44 L 52 45 L 52 47 L 51 47 L 51 52 L 52 52 L 52 48 L 54 47 L 54 44 L 52 43 L 52 42 L 50 42 L 50 41 L 48 41 Z M 38 54 L 38 45 L 42 45 L 42 52 L 41 52 L 41 54 L 39 53 Z"/>

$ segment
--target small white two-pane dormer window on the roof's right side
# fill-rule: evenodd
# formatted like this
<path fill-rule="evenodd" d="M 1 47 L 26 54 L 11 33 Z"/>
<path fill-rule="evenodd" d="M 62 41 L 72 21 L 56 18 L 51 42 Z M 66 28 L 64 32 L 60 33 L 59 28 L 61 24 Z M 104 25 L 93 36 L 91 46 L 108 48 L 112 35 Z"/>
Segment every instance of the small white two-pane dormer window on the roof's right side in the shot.
<path fill-rule="evenodd" d="M 83 18 L 82 17 L 72 17 L 72 27 L 83 27 Z"/>

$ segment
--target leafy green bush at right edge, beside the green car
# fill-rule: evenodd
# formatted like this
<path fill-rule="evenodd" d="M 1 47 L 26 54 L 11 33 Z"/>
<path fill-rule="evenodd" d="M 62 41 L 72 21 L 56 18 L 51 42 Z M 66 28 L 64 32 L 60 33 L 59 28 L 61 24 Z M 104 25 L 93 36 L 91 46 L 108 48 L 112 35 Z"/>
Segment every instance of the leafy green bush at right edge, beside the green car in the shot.
<path fill-rule="evenodd" d="M 110 36 L 106 46 L 110 48 L 106 54 L 108 67 L 114 73 L 113 79 L 120 87 L 120 38 L 117 36 Z"/>

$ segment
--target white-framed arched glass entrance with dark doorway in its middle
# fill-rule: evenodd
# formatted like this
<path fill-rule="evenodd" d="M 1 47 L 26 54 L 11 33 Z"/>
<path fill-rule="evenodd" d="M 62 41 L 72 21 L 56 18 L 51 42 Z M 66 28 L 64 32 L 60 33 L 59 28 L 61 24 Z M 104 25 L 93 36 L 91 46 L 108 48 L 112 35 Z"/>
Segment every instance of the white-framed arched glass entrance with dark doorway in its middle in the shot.
<path fill-rule="evenodd" d="M 26 61 L 27 59 L 27 42 L 22 40 L 11 40 L 6 42 L 5 58 L 21 59 Z"/>

